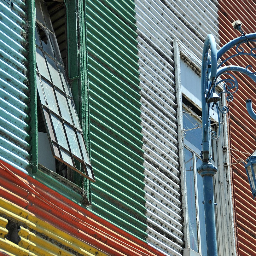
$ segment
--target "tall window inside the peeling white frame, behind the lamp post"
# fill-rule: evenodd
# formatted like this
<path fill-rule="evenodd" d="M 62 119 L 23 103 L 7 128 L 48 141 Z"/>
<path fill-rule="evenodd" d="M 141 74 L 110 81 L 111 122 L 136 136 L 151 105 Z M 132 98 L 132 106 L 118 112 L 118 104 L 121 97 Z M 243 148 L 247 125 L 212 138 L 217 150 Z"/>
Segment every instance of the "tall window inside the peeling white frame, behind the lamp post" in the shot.
<path fill-rule="evenodd" d="M 182 59 L 181 85 L 182 85 L 182 123 L 183 123 L 183 177 L 185 180 L 185 212 L 187 228 L 187 248 L 184 255 L 207 255 L 206 229 L 204 214 L 203 178 L 197 172 L 201 166 L 202 150 L 202 113 L 200 77 Z M 211 117 L 216 118 L 217 113 L 211 112 Z M 211 119 L 212 119 L 211 118 Z M 212 129 L 215 120 L 212 119 Z M 216 141 L 212 140 L 212 163 L 215 165 L 214 156 L 217 154 Z"/>

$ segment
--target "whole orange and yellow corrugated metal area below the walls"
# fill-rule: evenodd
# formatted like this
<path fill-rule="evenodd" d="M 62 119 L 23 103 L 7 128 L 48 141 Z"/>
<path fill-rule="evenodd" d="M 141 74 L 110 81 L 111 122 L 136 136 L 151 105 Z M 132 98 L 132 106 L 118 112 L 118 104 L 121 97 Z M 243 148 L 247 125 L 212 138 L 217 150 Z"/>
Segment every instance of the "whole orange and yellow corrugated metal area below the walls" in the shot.
<path fill-rule="evenodd" d="M 8 255 L 47 252 L 49 255 L 163 256 L 141 239 L 3 161 L 0 173 L 0 252 Z M 7 219 L 20 226 L 18 245 L 6 239 Z"/>

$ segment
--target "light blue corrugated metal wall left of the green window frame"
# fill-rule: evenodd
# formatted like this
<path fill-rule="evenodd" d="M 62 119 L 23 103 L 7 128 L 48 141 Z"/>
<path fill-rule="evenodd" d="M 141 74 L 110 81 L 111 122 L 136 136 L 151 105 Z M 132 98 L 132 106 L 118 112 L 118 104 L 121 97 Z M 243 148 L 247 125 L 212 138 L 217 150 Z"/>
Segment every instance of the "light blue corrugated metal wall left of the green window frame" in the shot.
<path fill-rule="evenodd" d="M 27 172 L 31 138 L 23 47 L 27 45 L 26 6 L 19 0 L 10 3 L 0 1 L 0 159 Z"/>

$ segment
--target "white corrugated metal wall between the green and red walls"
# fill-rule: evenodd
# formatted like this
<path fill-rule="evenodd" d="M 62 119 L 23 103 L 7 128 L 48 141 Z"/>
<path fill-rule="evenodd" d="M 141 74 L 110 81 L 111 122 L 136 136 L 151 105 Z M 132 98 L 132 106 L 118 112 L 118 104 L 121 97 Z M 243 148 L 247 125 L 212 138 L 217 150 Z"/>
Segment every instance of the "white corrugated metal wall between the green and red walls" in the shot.
<path fill-rule="evenodd" d="M 147 241 L 168 255 L 182 255 L 183 211 L 172 43 L 176 37 L 201 57 L 209 32 L 215 32 L 218 43 L 217 7 L 208 1 L 136 0 L 135 4 Z"/>

